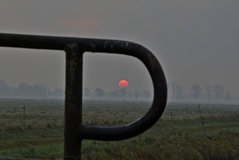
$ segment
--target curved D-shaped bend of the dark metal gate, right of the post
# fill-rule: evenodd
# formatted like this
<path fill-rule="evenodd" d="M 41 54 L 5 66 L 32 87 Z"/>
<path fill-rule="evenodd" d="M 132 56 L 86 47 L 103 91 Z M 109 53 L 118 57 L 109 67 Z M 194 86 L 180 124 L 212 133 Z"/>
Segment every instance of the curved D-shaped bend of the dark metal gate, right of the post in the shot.
<path fill-rule="evenodd" d="M 112 42 L 108 45 L 111 47 L 110 52 L 130 55 L 138 58 L 148 69 L 153 81 L 154 99 L 149 111 L 140 119 L 130 124 L 118 127 L 98 127 L 82 126 L 79 134 L 84 139 L 95 140 L 122 140 L 136 136 L 149 129 L 161 117 L 167 101 L 167 85 L 164 72 L 157 61 L 156 57 L 141 45 L 131 42 Z M 103 45 L 99 45 L 103 46 Z M 98 45 L 96 45 L 98 47 Z M 102 49 L 105 51 L 105 48 Z"/>

